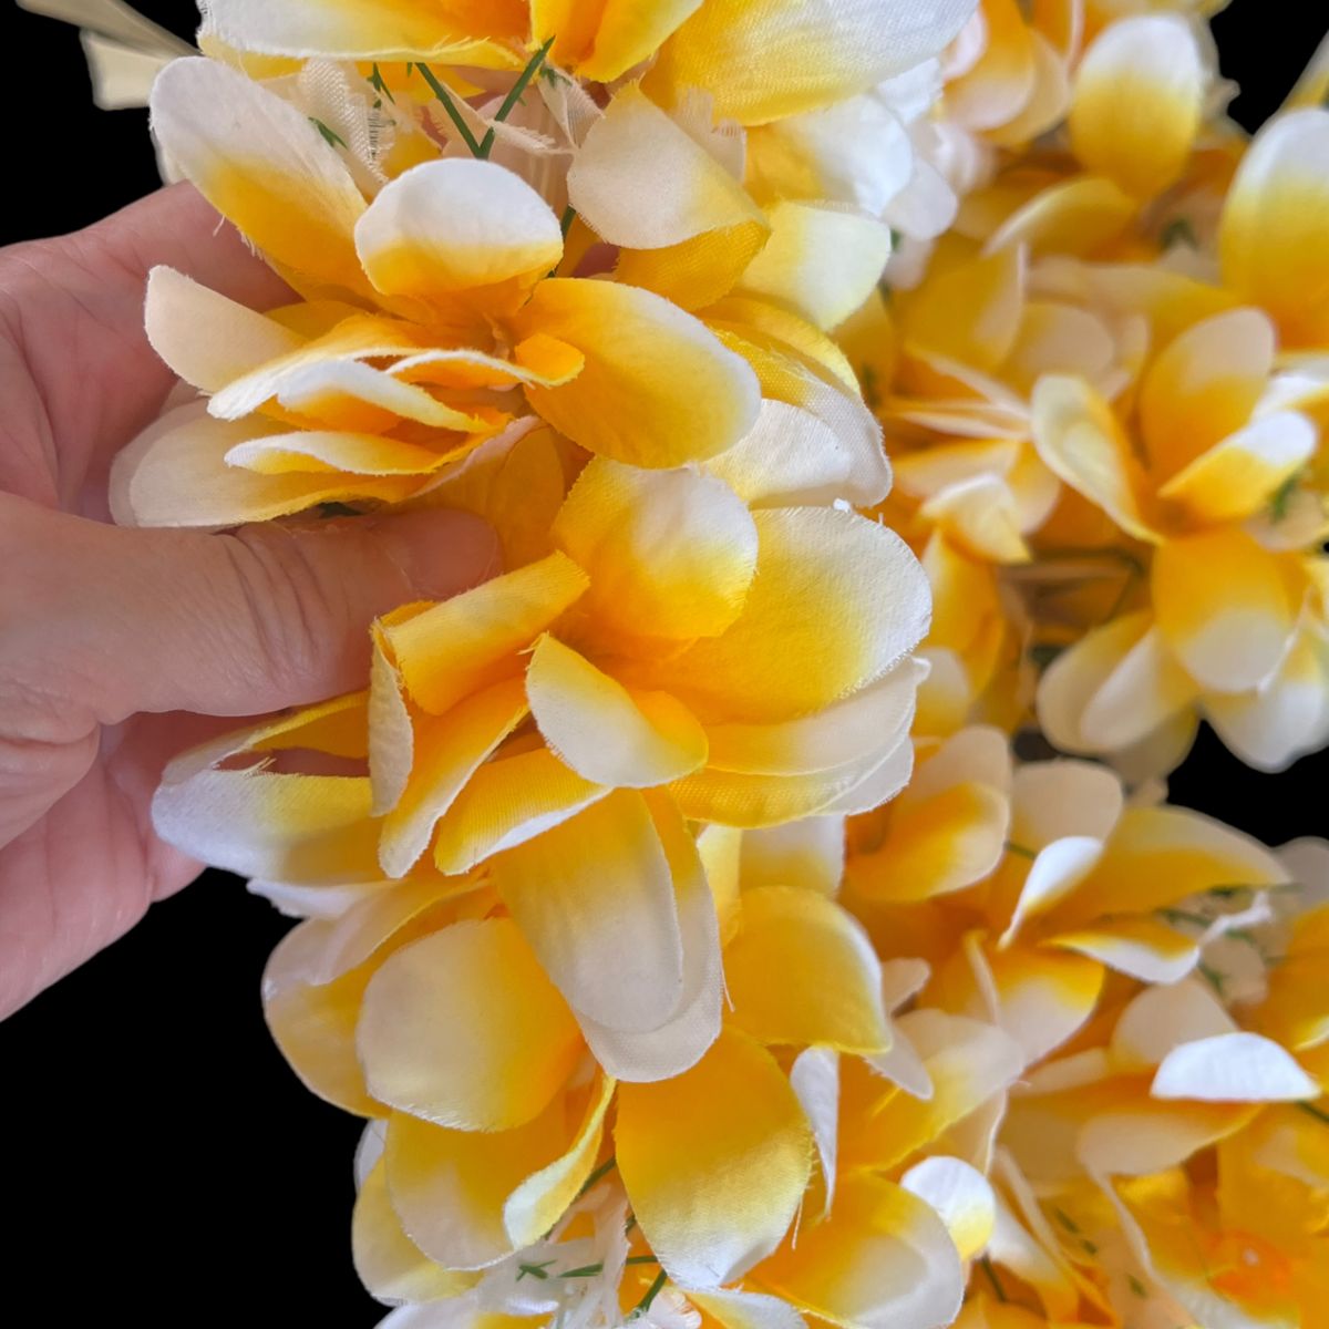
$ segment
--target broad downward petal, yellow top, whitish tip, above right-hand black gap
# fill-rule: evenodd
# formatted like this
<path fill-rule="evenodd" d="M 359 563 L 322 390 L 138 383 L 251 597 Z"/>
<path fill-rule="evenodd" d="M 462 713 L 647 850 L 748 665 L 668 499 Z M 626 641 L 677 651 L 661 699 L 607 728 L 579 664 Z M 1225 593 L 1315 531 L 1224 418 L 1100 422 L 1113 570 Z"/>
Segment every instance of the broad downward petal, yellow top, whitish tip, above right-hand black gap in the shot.
<path fill-rule="evenodd" d="M 1298 587 L 1277 554 L 1239 529 L 1168 541 L 1150 582 L 1163 638 L 1207 688 L 1259 687 L 1292 645 Z"/>

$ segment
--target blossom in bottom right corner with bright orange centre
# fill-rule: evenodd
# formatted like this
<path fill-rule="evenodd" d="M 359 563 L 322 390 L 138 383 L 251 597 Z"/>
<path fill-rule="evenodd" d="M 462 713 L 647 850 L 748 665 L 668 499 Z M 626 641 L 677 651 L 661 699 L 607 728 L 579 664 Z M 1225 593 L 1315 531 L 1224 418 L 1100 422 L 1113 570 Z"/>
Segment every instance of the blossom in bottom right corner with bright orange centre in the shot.
<path fill-rule="evenodd" d="M 1037 1073 L 1009 1142 L 1076 1229 L 1119 1228 L 1197 1322 L 1294 1322 L 1322 1293 L 1322 1075 L 1188 978 L 1146 989 L 1104 1046 Z"/>

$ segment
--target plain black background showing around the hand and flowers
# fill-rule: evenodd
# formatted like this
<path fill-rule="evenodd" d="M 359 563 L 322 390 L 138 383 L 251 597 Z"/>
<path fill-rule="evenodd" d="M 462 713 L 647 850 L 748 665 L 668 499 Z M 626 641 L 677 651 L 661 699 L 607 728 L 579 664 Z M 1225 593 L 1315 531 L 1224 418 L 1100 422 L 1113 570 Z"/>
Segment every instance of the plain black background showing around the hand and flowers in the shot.
<path fill-rule="evenodd" d="M 193 32 L 187 0 L 138 8 Z M 1243 125 L 1277 108 L 1325 27 L 1310 0 L 1235 0 L 1215 20 Z M 92 106 L 72 29 L 0 0 L 0 243 L 155 185 L 145 114 Z M 1205 732 L 1172 797 L 1278 844 L 1329 829 L 1326 773 L 1329 754 L 1257 775 Z M 259 975 L 286 926 L 210 872 L 0 1025 L 0 1322 L 383 1314 L 351 1269 L 359 1123 L 295 1080 L 263 1026 Z"/>

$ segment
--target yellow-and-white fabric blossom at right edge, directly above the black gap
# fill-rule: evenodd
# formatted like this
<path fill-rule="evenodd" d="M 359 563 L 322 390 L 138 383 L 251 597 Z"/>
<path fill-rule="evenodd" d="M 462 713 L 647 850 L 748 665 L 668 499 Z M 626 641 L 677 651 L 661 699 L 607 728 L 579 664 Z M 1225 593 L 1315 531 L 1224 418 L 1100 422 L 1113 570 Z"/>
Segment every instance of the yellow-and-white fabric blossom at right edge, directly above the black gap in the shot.
<path fill-rule="evenodd" d="M 1271 379 L 1275 351 L 1259 310 L 1200 319 L 1152 358 L 1127 425 L 1083 380 L 1038 384 L 1039 453 L 1148 561 L 1146 602 L 1043 679 L 1039 716 L 1059 747 L 1120 751 L 1162 730 L 1175 760 L 1197 710 L 1267 769 L 1322 740 L 1324 570 L 1308 552 L 1322 537 L 1314 517 L 1284 529 L 1280 516 L 1318 431 Z M 1126 695 L 1128 720 L 1112 714 Z"/>

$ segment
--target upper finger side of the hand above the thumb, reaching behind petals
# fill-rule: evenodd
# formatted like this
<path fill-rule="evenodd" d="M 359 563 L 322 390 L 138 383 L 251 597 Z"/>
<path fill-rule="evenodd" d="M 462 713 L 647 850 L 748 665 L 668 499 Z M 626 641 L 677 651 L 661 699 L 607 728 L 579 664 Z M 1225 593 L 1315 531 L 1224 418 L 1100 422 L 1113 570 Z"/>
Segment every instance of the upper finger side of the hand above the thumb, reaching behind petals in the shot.
<path fill-rule="evenodd" d="M 66 506 L 84 486 L 98 489 L 110 457 L 154 419 L 174 381 L 144 332 L 144 286 L 158 263 L 255 308 L 290 298 L 191 185 L 72 235 L 0 250 L 0 334 L 43 407 Z M 16 391 L 5 385 L 11 401 Z"/>

